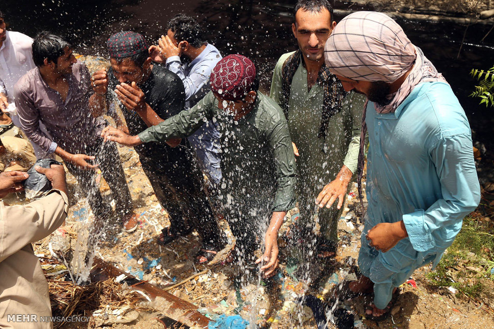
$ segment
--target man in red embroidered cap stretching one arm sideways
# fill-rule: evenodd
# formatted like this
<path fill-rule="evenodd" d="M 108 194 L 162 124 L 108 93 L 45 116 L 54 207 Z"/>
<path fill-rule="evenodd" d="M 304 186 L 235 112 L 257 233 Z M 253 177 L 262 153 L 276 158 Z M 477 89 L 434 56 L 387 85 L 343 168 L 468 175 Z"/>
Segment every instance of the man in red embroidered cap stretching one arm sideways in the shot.
<path fill-rule="evenodd" d="M 127 146 L 185 138 L 206 121 L 218 122 L 221 133 L 221 199 L 225 218 L 237 238 L 241 267 L 251 263 L 264 234 L 265 277 L 278 266 L 278 230 L 295 206 L 295 159 L 287 120 L 281 108 L 257 89 L 254 64 L 245 56 L 229 55 L 210 77 L 211 92 L 190 110 L 168 118 L 137 136 L 107 127 L 102 136 Z M 270 220 L 268 220 L 271 218 Z M 267 228 L 266 228 L 267 227 Z"/>

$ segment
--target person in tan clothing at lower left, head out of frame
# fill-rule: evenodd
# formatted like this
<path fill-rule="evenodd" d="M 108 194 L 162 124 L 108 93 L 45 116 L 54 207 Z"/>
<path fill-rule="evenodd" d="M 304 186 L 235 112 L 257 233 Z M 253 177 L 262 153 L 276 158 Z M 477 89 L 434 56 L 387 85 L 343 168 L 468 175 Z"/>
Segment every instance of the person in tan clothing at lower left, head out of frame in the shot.
<path fill-rule="evenodd" d="M 25 206 L 0 201 L 0 328 L 51 329 L 48 285 L 31 243 L 57 229 L 67 217 L 69 202 L 63 166 L 37 167 L 53 189 Z M 28 174 L 0 174 L 0 198 L 23 189 Z"/>

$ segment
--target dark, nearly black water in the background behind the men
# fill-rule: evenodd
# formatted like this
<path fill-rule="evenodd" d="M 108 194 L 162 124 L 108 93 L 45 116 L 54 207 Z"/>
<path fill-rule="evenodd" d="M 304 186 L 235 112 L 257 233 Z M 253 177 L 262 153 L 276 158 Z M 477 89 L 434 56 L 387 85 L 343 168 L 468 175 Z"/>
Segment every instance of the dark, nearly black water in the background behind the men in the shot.
<path fill-rule="evenodd" d="M 34 3 L 33 3 L 34 2 Z M 222 53 L 241 53 L 251 58 L 261 73 L 263 90 L 269 89 L 272 70 L 281 54 L 295 50 L 291 35 L 292 7 L 288 1 L 226 0 L 48 0 L 2 1 L 10 29 L 34 36 L 48 30 L 69 37 L 82 54 L 106 56 L 105 41 L 113 33 L 132 30 L 150 43 L 165 34 L 166 22 L 184 12 L 205 27 L 205 40 Z M 336 8 L 349 9 L 345 2 Z M 352 10 L 361 8 L 353 5 Z M 335 15 L 335 19 L 342 17 Z M 481 42 L 492 26 L 399 20 L 412 42 L 444 74 L 465 109 L 474 141 L 494 153 L 492 127 L 494 109 L 479 106 L 468 94 L 474 88 L 472 68 L 494 66 L 494 31 Z M 462 39 L 465 37 L 463 45 Z M 460 50 L 461 47 L 461 50 Z"/>

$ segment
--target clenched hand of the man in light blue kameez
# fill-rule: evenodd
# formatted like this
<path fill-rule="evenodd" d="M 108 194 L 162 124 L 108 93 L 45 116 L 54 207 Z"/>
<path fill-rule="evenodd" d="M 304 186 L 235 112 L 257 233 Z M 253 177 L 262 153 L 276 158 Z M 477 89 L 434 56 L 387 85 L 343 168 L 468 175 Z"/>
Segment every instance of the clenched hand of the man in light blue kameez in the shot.
<path fill-rule="evenodd" d="M 366 238 L 370 241 L 371 247 L 386 253 L 407 236 L 402 220 L 395 223 L 379 223 L 367 231 Z"/>

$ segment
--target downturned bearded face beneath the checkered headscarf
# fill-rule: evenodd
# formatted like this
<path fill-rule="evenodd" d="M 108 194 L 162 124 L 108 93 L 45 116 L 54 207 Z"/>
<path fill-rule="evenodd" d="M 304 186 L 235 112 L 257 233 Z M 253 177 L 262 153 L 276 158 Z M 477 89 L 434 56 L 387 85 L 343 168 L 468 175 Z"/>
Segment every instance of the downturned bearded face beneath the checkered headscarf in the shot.
<path fill-rule="evenodd" d="M 358 81 L 350 78 L 336 75 L 341 81 L 345 91 L 354 90 L 356 93 L 363 94 L 374 103 L 381 106 L 389 104 L 387 96 L 391 93 L 391 85 L 384 81 Z"/>

